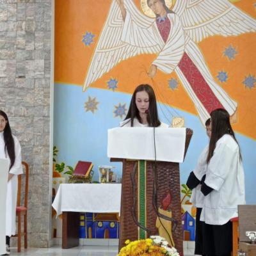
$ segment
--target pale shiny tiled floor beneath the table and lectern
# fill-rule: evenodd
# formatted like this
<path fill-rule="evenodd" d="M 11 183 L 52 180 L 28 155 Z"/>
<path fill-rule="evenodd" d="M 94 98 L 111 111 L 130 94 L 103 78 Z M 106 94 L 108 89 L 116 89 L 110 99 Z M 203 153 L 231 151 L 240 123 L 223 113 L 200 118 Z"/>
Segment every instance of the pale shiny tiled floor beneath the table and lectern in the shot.
<path fill-rule="evenodd" d="M 194 255 L 193 248 L 184 248 L 184 256 Z M 17 248 L 11 248 L 12 256 L 116 256 L 118 253 L 117 246 L 77 246 L 70 249 L 61 249 L 61 246 L 51 248 L 28 248 L 17 253 Z"/>

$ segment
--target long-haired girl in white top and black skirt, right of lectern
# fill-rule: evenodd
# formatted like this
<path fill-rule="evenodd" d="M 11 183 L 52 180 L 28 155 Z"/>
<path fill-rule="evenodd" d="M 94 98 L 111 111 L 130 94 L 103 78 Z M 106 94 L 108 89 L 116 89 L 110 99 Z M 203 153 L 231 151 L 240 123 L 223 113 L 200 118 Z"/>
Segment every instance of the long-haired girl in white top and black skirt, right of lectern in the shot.
<path fill-rule="evenodd" d="M 200 220 L 203 225 L 204 255 L 230 255 L 232 223 L 237 205 L 245 204 L 244 170 L 239 144 L 225 109 L 211 113 L 211 139 L 207 154 L 207 170 L 201 191 L 204 206 Z"/>

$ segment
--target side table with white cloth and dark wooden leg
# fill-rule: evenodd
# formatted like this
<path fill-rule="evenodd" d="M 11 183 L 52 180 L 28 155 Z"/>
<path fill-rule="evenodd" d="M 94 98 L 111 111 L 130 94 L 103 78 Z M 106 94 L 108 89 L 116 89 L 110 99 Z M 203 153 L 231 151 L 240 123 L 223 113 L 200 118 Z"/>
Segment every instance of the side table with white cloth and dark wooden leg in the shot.
<path fill-rule="evenodd" d="M 121 184 L 61 184 L 52 207 L 62 216 L 62 248 L 79 245 L 80 212 L 120 212 Z"/>

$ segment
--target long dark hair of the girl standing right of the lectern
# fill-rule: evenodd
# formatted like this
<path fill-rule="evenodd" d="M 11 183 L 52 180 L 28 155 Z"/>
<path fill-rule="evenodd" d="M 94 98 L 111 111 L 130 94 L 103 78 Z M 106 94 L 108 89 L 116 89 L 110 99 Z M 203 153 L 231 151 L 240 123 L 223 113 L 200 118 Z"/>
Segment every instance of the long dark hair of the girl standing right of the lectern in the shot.
<path fill-rule="evenodd" d="M 234 140 L 236 141 L 236 143 L 239 147 L 239 143 L 237 142 L 234 131 L 230 125 L 229 118 L 230 118 L 230 116 L 225 109 L 215 109 L 211 113 L 212 133 L 211 133 L 211 139 L 210 139 L 210 143 L 209 143 L 207 163 L 210 162 L 211 157 L 213 156 L 213 152 L 216 147 L 217 141 L 224 134 L 230 134 L 234 138 Z M 239 147 L 239 154 L 240 154 L 240 159 L 242 159 L 240 147 Z"/>

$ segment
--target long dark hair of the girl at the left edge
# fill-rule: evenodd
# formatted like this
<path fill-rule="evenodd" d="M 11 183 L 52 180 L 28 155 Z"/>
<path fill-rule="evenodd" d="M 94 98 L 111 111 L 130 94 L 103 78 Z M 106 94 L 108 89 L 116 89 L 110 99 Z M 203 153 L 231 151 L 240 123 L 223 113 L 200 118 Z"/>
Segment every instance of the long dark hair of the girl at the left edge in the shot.
<path fill-rule="evenodd" d="M 3 118 L 6 120 L 6 125 L 4 128 L 4 151 L 8 153 L 8 156 L 10 158 L 10 161 L 11 161 L 10 169 L 11 169 L 15 161 L 15 145 L 14 145 L 14 140 L 12 136 L 12 130 L 11 130 L 8 116 L 6 115 L 6 113 L 0 110 L 0 116 L 3 116 Z"/>

